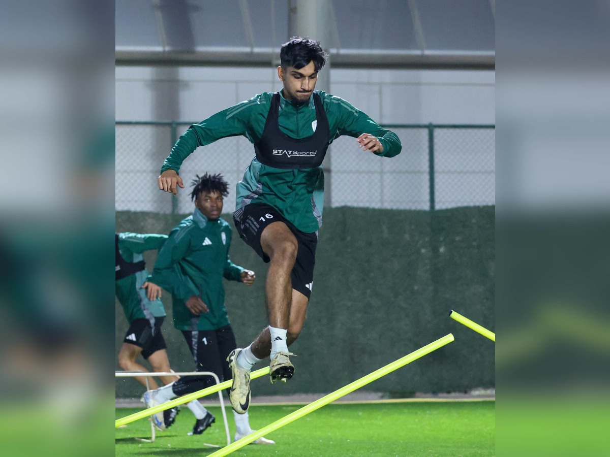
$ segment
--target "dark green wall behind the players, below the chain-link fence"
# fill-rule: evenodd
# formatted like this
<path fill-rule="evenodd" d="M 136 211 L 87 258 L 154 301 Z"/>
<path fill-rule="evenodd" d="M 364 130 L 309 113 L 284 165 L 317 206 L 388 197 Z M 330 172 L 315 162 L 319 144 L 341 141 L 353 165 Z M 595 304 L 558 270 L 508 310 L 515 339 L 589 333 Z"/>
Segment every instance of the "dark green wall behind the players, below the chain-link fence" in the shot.
<path fill-rule="evenodd" d="M 340 207 L 326 208 L 324 216 L 307 322 L 290 347 L 298 355 L 295 377 L 280 386 L 253 381 L 254 395 L 330 392 L 450 332 L 455 342 L 364 389 L 403 396 L 495 386 L 493 342 L 448 317 L 456 310 L 495 329 L 495 207 Z M 117 230 L 168 233 L 183 217 L 121 211 Z M 229 215 L 224 218 L 232 224 Z M 149 267 L 154 257 L 147 253 Z M 251 288 L 226 282 L 226 306 L 241 346 L 267 325 L 267 268 L 235 231 L 231 258 L 257 273 Z M 192 370 L 167 294 L 163 303 L 170 363 L 174 370 Z M 117 353 L 126 329 L 117 303 Z M 141 392 L 134 380 L 117 383 L 119 397 Z"/>

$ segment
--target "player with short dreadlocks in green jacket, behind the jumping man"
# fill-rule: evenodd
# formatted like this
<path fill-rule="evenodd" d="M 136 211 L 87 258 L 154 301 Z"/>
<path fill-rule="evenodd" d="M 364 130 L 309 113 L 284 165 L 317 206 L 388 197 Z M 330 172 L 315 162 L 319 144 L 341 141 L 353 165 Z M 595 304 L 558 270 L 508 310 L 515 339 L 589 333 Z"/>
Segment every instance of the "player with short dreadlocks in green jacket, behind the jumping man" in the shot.
<path fill-rule="evenodd" d="M 157 255 L 152 274 L 143 285 L 151 300 L 160 296 L 161 288 L 171 293 L 174 327 L 182 331 L 197 371 L 211 371 L 220 380 L 231 379 L 226 359 L 237 348 L 224 307 L 223 277 L 247 286 L 256 278 L 253 271 L 229 260 L 231 225 L 220 218 L 227 195 L 227 183 L 220 174 L 196 177 L 191 193 L 195 211 L 171 231 Z M 205 389 L 213 382 L 209 376 L 180 378 L 156 391 L 146 392 L 148 406 Z M 234 417 L 237 441 L 253 430 L 247 415 L 234 413 Z M 203 433 L 213 422 L 215 417 L 203 408 L 192 434 Z M 254 444 L 275 443 L 259 438 Z"/>

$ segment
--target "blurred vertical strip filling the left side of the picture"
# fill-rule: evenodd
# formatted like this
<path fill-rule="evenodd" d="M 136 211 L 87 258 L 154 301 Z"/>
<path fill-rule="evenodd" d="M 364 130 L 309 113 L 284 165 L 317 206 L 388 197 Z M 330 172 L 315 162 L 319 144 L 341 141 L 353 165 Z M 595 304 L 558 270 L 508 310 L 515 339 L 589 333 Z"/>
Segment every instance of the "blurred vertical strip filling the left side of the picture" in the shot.
<path fill-rule="evenodd" d="M 1 6 L 5 455 L 112 452 L 112 5 Z"/>

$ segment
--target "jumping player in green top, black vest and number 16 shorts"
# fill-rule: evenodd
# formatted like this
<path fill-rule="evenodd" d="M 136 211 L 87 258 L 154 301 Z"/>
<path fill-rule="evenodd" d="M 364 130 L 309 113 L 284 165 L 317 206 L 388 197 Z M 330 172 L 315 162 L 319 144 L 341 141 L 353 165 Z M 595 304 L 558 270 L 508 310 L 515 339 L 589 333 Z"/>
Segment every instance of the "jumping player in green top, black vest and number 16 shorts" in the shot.
<path fill-rule="evenodd" d="M 163 163 L 159 189 L 178 194 L 182 161 L 198 146 L 243 135 L 256 157 L 237 184 L 235 227 L 269 263 L 265 283 L 269 327 L 245 349 L 229 356 L 231 405 L 245 413 L 251 396 L 249 371 L 270 356 L 271 382 L 292 378 L 288 345 L 299 336 L 314 281 L 317 232 L 322 224 L 328 145 L 341 135 L 356 138 L 363 151 L 382 157 L 400 153 L 398 136 L 382 129 L 340 97 L 314 91 L 326 63 L 320 43 L 295 37 L 282 45 L 278 93 L 263 93 L 193 124 Z"/>

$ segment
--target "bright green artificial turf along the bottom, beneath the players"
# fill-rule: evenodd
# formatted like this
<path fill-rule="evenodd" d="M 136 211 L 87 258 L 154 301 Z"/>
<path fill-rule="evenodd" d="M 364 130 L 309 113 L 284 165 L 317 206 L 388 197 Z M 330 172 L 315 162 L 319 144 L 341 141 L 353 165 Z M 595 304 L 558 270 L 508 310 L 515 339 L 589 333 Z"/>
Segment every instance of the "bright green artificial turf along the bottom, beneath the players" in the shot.
<path fill-rule="evenodd" d="M 253 405 L 250 425 L 261 428 L 303 405 Z M 220 408 L 208 408 L 216 423 L 202 435 L 187 436 L 195 417 L 182 407 L 176 423 L 157 431 L 152 443 L 148 419 L 116 429 L 116 456 L 206 456 L 226 445 Z M 138 409 L 117 409 L 117 419 Z M 227 408 L 231 438 L 233 413 Z M 400 402 L 331 404 L 266 435 L 276 445 L 247 445 L 232 456 L 492 456 L 495 402 Z"/>

